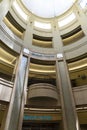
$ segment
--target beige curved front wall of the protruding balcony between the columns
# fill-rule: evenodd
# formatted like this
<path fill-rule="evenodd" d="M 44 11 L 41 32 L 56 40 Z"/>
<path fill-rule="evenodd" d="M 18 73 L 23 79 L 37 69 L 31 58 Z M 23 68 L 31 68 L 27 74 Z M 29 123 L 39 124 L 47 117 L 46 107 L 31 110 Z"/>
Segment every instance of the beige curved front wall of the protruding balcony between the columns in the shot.
<path fill-rule="evenodd" d="M 29 86 L 28 98 L 48 97 L 57 100 L 58 95 L 56 91 L 55 86 L 47 83 L 33 84 Z"/>

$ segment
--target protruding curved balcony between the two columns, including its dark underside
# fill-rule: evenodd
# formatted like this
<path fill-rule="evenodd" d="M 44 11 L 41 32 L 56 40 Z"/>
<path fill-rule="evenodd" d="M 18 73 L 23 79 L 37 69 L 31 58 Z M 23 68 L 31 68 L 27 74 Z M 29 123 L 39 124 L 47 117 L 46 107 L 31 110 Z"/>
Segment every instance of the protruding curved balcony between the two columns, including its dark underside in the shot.
<path fill-rule="evenodd" d="M 29 105 L 34 106 L 56 106 L 58 103 L 58 93 L 54 85 L 38 83 L 29 86 Z"/>

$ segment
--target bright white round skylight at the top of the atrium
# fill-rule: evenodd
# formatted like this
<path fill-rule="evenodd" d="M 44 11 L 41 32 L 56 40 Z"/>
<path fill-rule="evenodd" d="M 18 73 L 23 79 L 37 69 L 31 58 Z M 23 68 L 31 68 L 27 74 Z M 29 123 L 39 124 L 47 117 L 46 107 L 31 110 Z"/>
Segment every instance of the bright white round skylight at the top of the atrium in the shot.
<path fill-rule="evenodd" d="M 36 16 L 53 18 L 66 12 L 76 0 L 21 0 L 24 6 Z"/>

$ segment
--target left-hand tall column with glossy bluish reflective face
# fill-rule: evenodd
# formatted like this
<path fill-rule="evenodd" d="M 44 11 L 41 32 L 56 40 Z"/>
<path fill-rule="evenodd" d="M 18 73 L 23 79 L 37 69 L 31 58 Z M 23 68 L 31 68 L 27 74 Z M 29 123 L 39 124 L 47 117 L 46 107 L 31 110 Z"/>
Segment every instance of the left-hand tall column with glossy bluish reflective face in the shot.
<path fill-rule="evenodd" d="M 29 57 L 21 52 L 15 73 L 14 87 L 3 130 L 20 130 L 22 126 L 25 91 L 27 87 Z M 20 127 L 20 129 L 19 129 Z"/>

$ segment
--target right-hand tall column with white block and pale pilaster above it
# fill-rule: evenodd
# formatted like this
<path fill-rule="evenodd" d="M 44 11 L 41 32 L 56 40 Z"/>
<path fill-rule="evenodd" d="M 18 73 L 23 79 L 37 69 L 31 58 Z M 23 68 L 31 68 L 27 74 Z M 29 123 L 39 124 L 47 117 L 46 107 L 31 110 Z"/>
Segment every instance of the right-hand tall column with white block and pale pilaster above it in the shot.
<path fill-rule="evenodd" d="M 80 130 L 75 103 L 73 99 L 70 78 L 63 52 L 63 43 L 58 30 L 55 30 L 54 41 L 58 42 L 58 54 L 56 59 L 57 87 L 60 90 L 62 106 L 62 119 L 64 130 Z"/>

